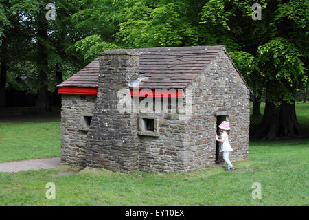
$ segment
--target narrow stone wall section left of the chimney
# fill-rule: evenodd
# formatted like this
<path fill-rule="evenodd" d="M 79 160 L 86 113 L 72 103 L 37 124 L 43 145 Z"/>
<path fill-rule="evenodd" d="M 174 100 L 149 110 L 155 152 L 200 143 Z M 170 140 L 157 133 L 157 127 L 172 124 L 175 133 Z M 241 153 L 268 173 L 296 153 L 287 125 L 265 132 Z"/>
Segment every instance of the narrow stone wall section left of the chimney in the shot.
<path fill-rule="evenodd" d="M 84 116 L 91 116 L 96 96 L 62 94 L 61 163 L 84 165 L 88 127 Z"/>

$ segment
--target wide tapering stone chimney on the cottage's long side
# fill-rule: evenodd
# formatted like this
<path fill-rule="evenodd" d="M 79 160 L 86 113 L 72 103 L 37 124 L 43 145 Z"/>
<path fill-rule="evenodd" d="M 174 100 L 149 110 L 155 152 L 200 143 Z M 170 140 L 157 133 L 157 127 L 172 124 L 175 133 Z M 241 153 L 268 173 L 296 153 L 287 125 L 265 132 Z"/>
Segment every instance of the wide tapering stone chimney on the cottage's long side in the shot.
<path fill-rule="evenodd" d="M 130 172 L 139 165 L 137 114 L 117 109 L 119 89 L 139 77 L 139 54 L 100 56 L 98 96 L 86 144 L 86 166 Z M 129 90 L 128 90 L 129 91 Z"/>

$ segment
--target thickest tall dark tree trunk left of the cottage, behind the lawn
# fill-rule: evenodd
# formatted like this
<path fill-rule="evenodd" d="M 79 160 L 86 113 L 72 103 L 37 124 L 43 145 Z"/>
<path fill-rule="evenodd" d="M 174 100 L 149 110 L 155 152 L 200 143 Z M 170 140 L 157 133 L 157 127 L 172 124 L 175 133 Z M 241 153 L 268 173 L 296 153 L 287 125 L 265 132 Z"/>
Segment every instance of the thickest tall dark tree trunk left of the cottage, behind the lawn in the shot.
<path fill-rule="evenodd" d="M 43 113 L 44 111 L 51 111 L 49 96 L 48 96 L 48 54 L 47 47 L 48 43 L 48 23 L 45 19 L 45 14 L 43 11 L 38 16 L 38 97 L 36 99 L 36 106 L 38 107 L 38 112 Z"/>

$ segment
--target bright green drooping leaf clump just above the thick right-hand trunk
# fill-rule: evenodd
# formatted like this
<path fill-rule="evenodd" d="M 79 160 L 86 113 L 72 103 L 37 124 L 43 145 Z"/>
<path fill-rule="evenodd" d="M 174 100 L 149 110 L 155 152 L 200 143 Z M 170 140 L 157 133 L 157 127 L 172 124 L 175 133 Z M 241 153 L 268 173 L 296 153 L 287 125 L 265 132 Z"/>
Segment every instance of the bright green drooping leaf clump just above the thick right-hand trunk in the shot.
<path fill-rule="evenodd" d="M 296 89 L 308 81 L 308 69 L 301 61 L 303 55 L 293 43 L 280 37 L 260 46 L 258 52 L 262 83 L 269 91 L 266 99 L 275 104 L 294 101 Z"/>

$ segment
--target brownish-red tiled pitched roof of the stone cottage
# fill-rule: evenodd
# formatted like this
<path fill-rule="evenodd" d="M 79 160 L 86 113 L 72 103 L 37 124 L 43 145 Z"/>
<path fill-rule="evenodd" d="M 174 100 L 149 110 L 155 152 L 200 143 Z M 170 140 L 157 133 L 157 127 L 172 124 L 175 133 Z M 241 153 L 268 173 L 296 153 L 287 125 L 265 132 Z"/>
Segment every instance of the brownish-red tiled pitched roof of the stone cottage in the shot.
<path fill-rule="evenodd" d="M 142 78 L 147 77 L 139 83 L 139 88 L 170 89 L 187 87 L 222 50 L 225 51 L 224 46 L 153 47 L 105 50 L 104 53 L 139 53 L 139 73 Z M 98 87 L 98 74 L 97 58 L 58 87 Z"/>

